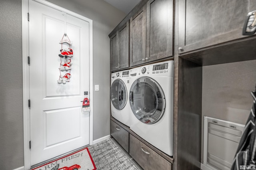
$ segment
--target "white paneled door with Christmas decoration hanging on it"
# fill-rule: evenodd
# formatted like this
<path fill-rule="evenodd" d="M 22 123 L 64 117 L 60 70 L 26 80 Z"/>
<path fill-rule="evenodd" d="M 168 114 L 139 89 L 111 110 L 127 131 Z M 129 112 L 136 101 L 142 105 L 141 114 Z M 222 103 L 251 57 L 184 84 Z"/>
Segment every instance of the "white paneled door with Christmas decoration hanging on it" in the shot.
<path fill-rule="evenodd" d="M 89 144 L 89 23 L 29 0 L 31 165 Z M 73 49 L 71 78 L 59 84 L 59 43 L 66 33 Z"/>

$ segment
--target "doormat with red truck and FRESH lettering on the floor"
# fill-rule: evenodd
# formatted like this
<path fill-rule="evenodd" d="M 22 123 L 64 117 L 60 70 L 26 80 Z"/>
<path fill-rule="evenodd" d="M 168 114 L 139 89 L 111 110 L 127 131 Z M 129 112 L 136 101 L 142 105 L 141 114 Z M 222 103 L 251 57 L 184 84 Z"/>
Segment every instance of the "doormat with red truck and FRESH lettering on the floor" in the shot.
<path fill-rule="evenodd" d="M 68 154 L 32 170 L 96 170 L 88 148 Z"/>

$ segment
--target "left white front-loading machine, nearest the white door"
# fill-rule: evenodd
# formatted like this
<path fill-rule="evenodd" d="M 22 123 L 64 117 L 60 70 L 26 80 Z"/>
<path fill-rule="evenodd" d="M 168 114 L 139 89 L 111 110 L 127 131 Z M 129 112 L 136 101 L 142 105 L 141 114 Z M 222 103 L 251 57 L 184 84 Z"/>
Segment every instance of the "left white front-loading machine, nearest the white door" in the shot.
<path fill-rule="evenodd" d="M 112 117 L 126 126 L 129 125 L 129 70 L 111 74 L 110 100 Z"/>

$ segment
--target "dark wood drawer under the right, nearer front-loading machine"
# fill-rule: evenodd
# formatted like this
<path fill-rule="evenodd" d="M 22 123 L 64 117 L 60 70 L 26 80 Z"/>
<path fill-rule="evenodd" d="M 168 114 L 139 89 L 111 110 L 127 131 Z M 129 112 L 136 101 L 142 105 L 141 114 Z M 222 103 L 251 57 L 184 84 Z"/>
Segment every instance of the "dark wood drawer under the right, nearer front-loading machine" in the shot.
<path fill-rule="evenodd" d="M 129 154 L 144 170 L 172 170 L 172 164 L 130 134 Z"/>

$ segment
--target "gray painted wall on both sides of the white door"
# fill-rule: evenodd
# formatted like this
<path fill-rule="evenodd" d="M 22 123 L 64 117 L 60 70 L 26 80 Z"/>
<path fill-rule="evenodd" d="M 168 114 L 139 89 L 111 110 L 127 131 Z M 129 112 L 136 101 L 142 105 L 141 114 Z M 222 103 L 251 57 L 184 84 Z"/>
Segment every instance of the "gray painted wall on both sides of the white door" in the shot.
<path fill-rule="evenodd" d="M 0 1 L 0 169 L 24 166 L 22 112 L 21 0 Z M 93 140 L 110 134 L 110 40 L 108 34 L 126 16 L 103 0 L 49 0 L 93 20 Z"/>

